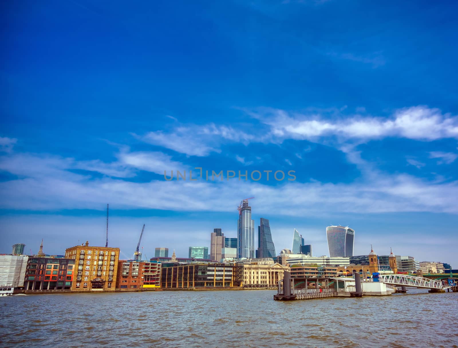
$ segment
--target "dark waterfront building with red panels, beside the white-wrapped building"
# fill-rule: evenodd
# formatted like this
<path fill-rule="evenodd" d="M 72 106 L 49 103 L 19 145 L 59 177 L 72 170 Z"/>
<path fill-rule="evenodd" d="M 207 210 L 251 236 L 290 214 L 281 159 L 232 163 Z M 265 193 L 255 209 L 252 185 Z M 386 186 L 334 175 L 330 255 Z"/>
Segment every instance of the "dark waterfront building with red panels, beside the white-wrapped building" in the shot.
<path fill-rule="evenodd" d="M 75 260 L 49 257 L 29 257 L 24 278 L 24 290 L 71 291 L 75 275 Z"/>

